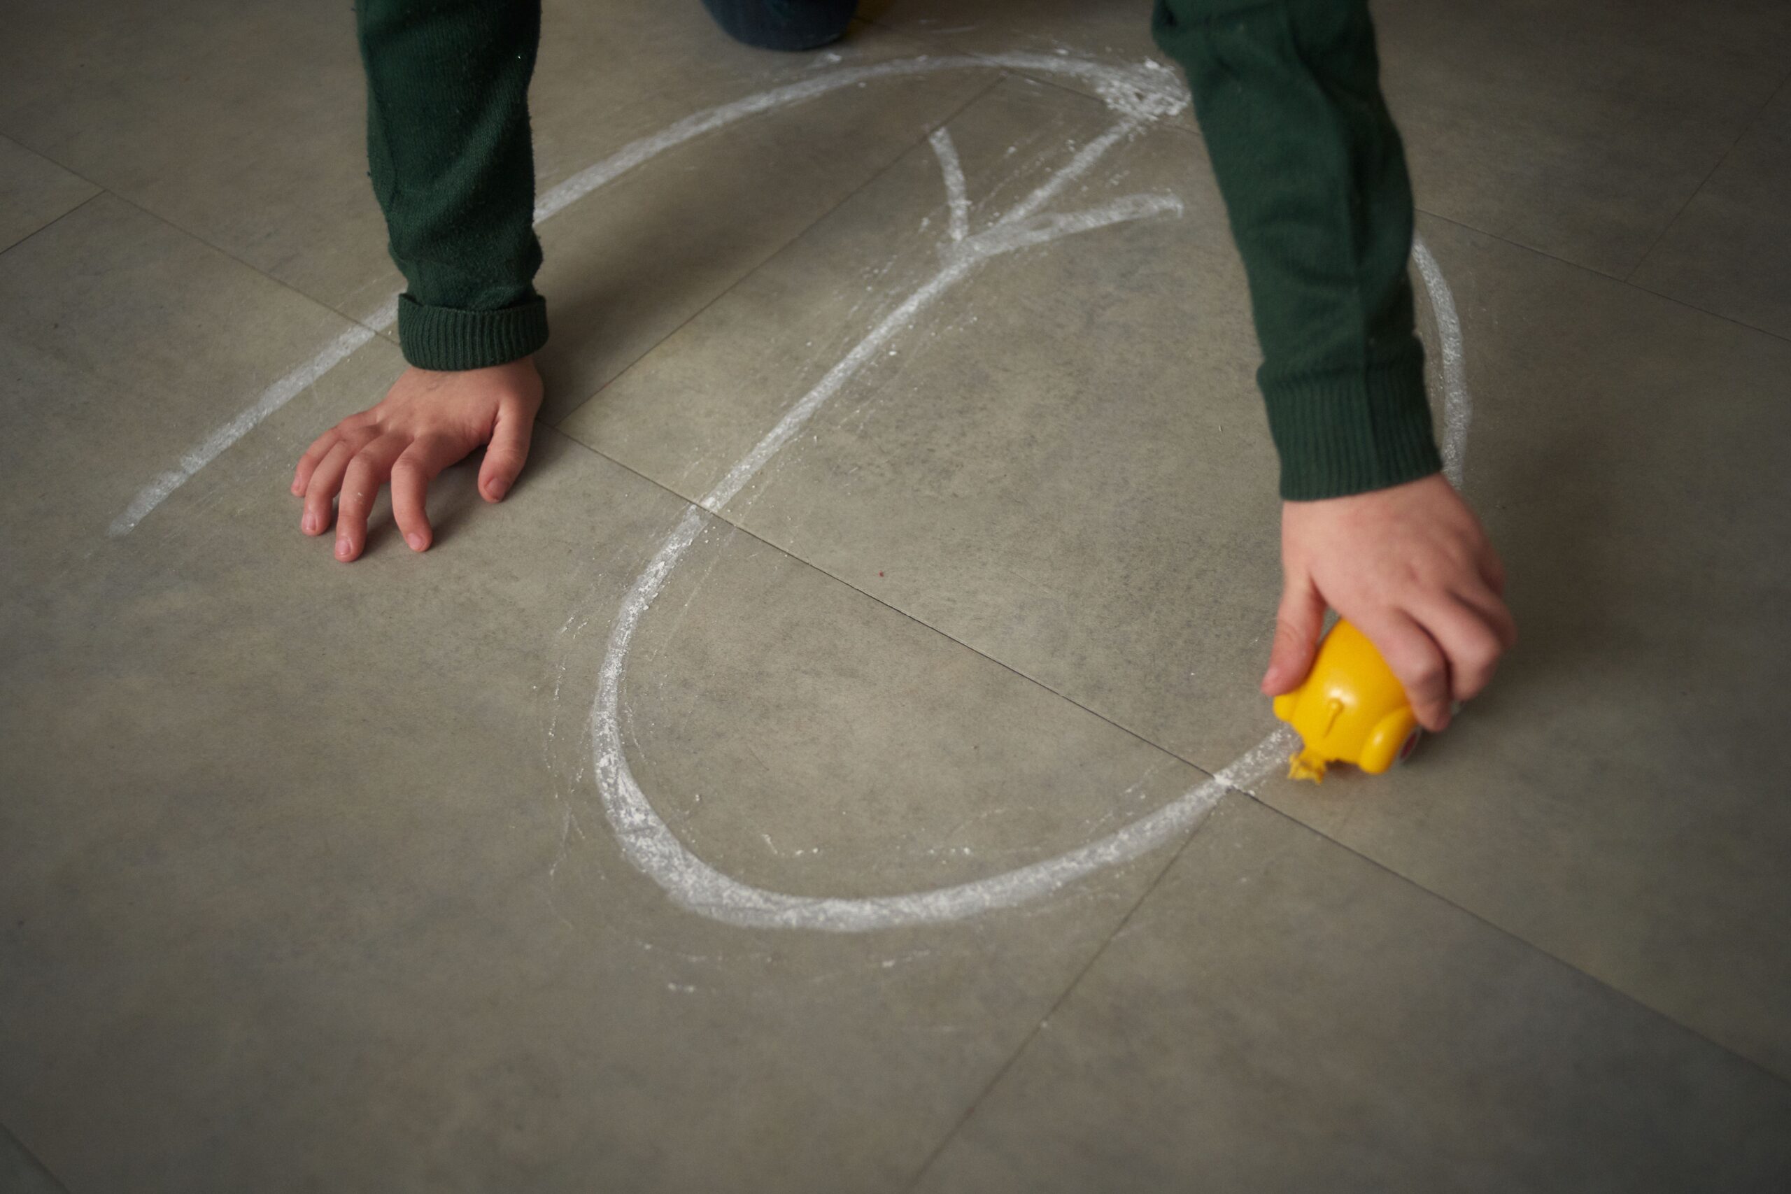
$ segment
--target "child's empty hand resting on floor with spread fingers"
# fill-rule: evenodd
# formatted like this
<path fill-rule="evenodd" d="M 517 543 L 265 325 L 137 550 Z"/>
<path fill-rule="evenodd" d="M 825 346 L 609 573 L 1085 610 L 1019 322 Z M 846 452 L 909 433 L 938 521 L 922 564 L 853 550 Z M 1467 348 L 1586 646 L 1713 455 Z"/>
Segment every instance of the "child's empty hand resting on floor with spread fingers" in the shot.
<path fill-rule="evenodd" d="M 299 530 L 330 530 L 330 507 L 340 490 L 335 553 L 356 559 L 367 544 L 373 499 L 390 480 L 398 530 L 412 551 L 428 550 L 433 532 L 424 496 L 435 474 L 491 444 L 478 492 L 498 501 L 523 471 L 539 408 L 541 374 L 527 356 L 464 372 L 407 369 L 378 406 L 335 424 L 299 458 L 292 476 L 292 492 L 304 498 Z"/>

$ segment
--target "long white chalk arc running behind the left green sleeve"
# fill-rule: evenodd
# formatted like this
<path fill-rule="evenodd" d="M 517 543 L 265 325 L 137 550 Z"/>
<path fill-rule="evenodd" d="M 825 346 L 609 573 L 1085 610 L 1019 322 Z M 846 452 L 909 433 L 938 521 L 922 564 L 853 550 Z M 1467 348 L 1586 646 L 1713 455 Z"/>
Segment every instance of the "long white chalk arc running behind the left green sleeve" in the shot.
<path fill-rule="evenodd" d="M 1053 57 L 1048 54 L 996 54 L 989 57 L 921 55 L 874 63 L 870 66 L 853 66 L 700 111 L 693 116 L 679 120 L 661 132 L 630 141 L 604 161 L 580 170 L 541 195 L 539 202 L 536 202 L 534 220 L 536 224 L 541 224 L 605 183 L 621 177 L 629 170 L 650 161 L 668 149 L 682 145 L 684 141 L 702 136 L 704 132 L 724 129 L 738 120 L 745 120 L 747 116 L 756 116 L 759 113 L 783 107 L 784 104 L 811 100 L 815 97 L 827 95 L 829 91 L 853 88 L 876 79 L 924 75 L 938 70 L 1037 70 L 1057 75 L 1071 75 L 1093 82 L 1109 106 L 1127 113 L 1153 113 L 1161 109 L 1178 111 L 1180 106 L 1186 104 L 1186 100 L 1177 95 L 1173 77 L 1166 79 L 1168 72 L 1157 68 L 1155 64 L 1107 66 L 1087 59 Z M 381 303 L 360 328 L 342 333 L 337 342 L 331 342 L 331 345 L 319 351 L 317 356 L 274 381 L 247 410 L 217 428 L 201 442 L 199 448 L 181 456 L 174 469 L 161 473 L 156 480 L 140 489 L 125 512 L 113 519 L 107 533 L 115 537 L 129 535 L 150 510 L 167 501 L 176 489 L 190 482 L 224 449 L 247 435 L 270 414 L 303 394 L 312 383 L 317 381 L 317 378 L 340 363 L 347 353 L 353 353 L 362 344 L 367 344 L 367 340 L 373 338 L 373 333 L 390 328 L 396 319 L 398 295 L 394 294 L 387 297 L 385 303 Z M 337 344 L 355 337 L 360 338 L 349 349 L 333 354 Z"/>

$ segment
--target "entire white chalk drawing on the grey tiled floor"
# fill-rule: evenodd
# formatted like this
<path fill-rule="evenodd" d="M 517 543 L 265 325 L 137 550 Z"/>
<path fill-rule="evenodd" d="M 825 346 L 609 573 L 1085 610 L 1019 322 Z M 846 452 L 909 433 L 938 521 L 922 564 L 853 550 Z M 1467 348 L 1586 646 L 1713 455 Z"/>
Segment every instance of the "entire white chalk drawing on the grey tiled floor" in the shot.
<path fill-rule="evenodd" d="M 822 929 L 860 933 L 894 925 L 960 920 L 998 908 L 1039 899 L 1100 868 L 1135 859 L 1177 834 L 1187 832 L 1227 791 L 1247 791 L 1275 770 L 1291 748 L 1291 730 L 1275 729 L 1234 763 L 1196 784 L 1182 797 L 1134 820 L 1121 829 L 1055 857 L 1019 866 L 998 875 L 928 891 L 867 899 L 804 897 L 768 891 L 733 879 L 691 854 L 654 811 L 641 791 L 621 750 L 620 698 L 629 646 L 641 618 L 652 607 L 672 571 L 679 566 L 704 526 L 706 512 L 718 512 L 759 469 L 788 444 L 829 397 L 840 392 L 888 340 L 904 331 L 915 317 L 937 303 L 951 286 L 996 256 L 1044 245 L 1076 233 L 1087 233 L 1127 220 L 1182 211 L 1175 195 L 1130 195 L 1100 208 L 1039 215 L 1071 183 L 1085 175 L 1114 145 L 1141 129 L 1178 113 L 1187 104 L 1180 81 L 1157 63 L 1110 66 L 1089 59 L 1042 54 L 998 54 L 978 59 L 912 57 L 870 66 L 827 72 L 784 88 L 763 91 L 733 104 L 688 116 L 668 129 L 632 141 L 604 161 L 548 190 L 536 204 L 536 222 L 552 218 L 570 204 L 650 161 L 657 154 L 704 132 L 713 132 L 745 116 L 804 102 L 840 88 L 874 79 L 922 75 L 938 70 L 1019 70 L 1069 75 L 1094 86 L 1118 116 L 1100 138 L 1085 145 L 1067 165 L 1015 204 L 989 229 L 973 235 L 964 168 L 947 132 L 930 141 L 938 158 L 949 208 L 949 242 L 940 247 L 942 265 L 896 310 L 865 335 L 845 358 L 799 399 L 733 469 L 691 507 L 664 539 L 652 560 L 629 587 L 611 630 L 604 664 L 598 671 L 596 698 L 591 704 L 591 757 L 604 813 L 629 861 L 652 877 L 682 908 L 736 925 L 776 929 Z M 1436 315 L 1444 374 L 1444 462 L 1449 478 L 1460 485 L 1461 458 L 1472 417 L 1461 369 L 1461 324 L 1442 270 L 1422 240 L 1413 243 L 1413 260 Z M 240 415 L 217 428 L 177 462 L 177 467 L 145 485 L 124 514 L 111 525 L 113 535 L 125 535 L 176 489 L 192 480 L 220 453 L 240 440 L 261 419 L 279 410 L 349 353 L 389 328 L 396 317 L 396 295 L 360 326 L 342 333 L 312 360 L 274 381 Z M 571 822 L 568 822 L 570 825 Z M 564 843 L 562 843 L 564 845 Z M 557 866 L 557 863 L 555 863 Z"/>

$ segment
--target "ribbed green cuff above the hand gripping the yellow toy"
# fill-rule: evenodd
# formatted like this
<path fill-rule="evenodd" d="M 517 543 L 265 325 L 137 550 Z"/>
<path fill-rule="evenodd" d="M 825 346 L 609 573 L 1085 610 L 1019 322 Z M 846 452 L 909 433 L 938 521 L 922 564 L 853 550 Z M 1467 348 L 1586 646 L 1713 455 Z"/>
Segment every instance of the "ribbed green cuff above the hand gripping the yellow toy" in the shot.
<path fill-rule="evenodd" d="M 1347 498 L 1444 467 L 1424 397 L 1424 356 L 1361 371 L 1259 378 L 1286 501 Z"/>

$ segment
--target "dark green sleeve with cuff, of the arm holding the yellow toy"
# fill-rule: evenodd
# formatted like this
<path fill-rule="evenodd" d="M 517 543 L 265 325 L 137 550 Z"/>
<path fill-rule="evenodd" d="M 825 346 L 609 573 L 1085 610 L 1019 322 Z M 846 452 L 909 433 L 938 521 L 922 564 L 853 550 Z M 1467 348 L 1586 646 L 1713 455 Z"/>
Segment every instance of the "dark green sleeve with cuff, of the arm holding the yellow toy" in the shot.
<path fill-rule="evenodd" d="M 1363 0 L 1157 0 L 1250 277 L 1293 501 L 1442 462 L 1411 324 L 1411 181 Z"/>

